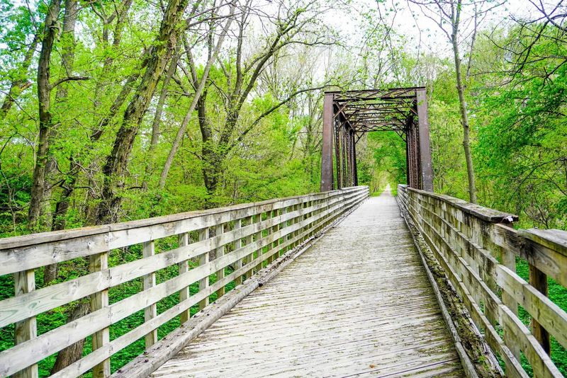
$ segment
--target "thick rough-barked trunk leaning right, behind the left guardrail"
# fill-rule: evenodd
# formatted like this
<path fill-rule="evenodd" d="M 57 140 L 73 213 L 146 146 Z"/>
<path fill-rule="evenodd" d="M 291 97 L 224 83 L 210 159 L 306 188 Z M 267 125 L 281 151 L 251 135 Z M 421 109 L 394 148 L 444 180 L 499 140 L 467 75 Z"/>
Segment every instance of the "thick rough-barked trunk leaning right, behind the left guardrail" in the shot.
<path fill-rule="evenodd" d="M 134 97 L 124 112 L 120 129 L 116 134 L 111 154 L 103 166 L 104 183 L 101 202 L 97 207 L 97 224 L 116 222 L 120 209 L 120 191 L 123 190 L 123 176 L 128 168 L 128 157 L 135 141 L 140 121 L 144 116 L 157 83 L 172 57 L 181 30 L 179 21 L 189 0 L 169 0 L 162 25 L 155 43 L 151 47 L 147 68 L 137 87 Z"/>

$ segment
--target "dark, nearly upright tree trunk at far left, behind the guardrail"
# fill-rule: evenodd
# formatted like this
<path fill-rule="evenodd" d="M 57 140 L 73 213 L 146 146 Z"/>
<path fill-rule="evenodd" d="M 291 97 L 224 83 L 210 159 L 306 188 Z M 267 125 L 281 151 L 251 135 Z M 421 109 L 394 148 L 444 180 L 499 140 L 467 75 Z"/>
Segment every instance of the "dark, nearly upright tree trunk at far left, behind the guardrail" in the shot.
<path fill-rule="evenodd" d="M 39 138 L 38 151 L 33 168 L 28 221 L 30 229 L 38 229 L 43 193 L 45 192 L 45 171 L 49 154 L 49 134 L 52 127 L 50 58 L 57 32 L 57 16 L 61 7 L 60 0 L 52 0 L 45 16 L 45 29 L 38 62 L 38 100 L 39 100 Z"/>

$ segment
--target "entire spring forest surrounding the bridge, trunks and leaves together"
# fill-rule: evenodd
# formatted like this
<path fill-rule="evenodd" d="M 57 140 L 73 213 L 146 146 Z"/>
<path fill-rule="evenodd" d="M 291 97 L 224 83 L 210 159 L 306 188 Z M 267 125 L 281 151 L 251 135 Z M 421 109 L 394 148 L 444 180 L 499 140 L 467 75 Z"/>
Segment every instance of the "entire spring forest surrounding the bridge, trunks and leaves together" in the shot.
<path fill-rule="evenodd" d="M 325 91 L 409 86 L 427 87 L 435 192 L 567 230 L 563 0 L 0 0 L 0 14 L 1 237 L 318 192 Z M 357 154 L 371 193 L 405 183 L 398 134 L 365 134 Z M 554 361 L 565 374 L 561 345 Z"/>

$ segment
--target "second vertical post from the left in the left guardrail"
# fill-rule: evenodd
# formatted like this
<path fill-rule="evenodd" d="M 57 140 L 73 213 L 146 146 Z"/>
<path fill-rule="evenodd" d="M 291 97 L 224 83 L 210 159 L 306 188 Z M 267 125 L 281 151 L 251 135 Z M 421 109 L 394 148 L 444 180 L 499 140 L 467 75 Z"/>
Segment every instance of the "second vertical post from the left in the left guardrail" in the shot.
<path fill-rule="evenodd" d="M 91 273 L 108 269 L 108 252 L 98 253 L 90 257 L 89 270 Z M 91 312 L 108 307 L 108 289 L 91 294 Z M 93 350 L 102 348 L 110 343 L 110 328 L 106 327 L 92 336 Z M 93 367 L 93 378 L 110 377 L 111 360 L 106 359 Z"/>

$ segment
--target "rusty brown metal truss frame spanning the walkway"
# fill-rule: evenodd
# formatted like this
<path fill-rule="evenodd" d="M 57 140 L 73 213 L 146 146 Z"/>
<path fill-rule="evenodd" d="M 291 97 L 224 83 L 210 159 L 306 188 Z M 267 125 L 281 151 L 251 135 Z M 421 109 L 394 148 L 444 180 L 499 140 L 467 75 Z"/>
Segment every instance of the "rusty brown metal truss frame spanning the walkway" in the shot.
<path fill-rule="evenodd" d="M 433 191 L 425 87 L 325 92 L 322 191 L 358 185 L 357 142 L 372 131 L 398 133 L 406 142 L 408 185 Z"/>

